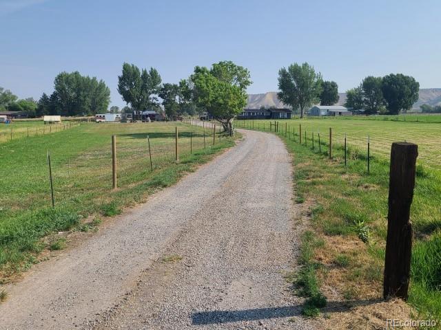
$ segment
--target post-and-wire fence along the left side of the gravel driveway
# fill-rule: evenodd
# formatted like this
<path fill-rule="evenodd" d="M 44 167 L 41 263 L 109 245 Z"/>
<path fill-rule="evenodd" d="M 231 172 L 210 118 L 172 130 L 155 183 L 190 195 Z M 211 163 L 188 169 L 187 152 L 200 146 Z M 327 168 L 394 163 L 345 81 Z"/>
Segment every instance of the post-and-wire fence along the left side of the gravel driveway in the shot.
<path fill-rule="evenodd" d="M 149 126 L 145 132 L 115 135 L 115 155 L 112 155 L 110 138 L 101 148 L 90 148 L 75 155 L 49 148 L 47 155 L 45 151 L 29 162 L 25 173 L 21 173 L 25 179 L 11 177 L 3 181 L 6 190 L 5 195 L 0 196 L 0 206 L 32 210 L 41 207 L 42 201 L 50 205 L 51 183 L 55 205 L 87 203 L 87 199 L 105 196 L 115 188 L 112 185 L 115 175 L 116 188 L 132 188 L 151 181 L 155 174 L 161 175 L 171 164 L 185 164 L 192 157 L 214 153 L 219 142 L 228 138 L 217 127 L 214 131 L 214 125 L 210 124 L 176 127 L 166 124 L 162 129 Z M 49 155 L 52 178 L 48 175 Z M 113 156 L 116 156 L 115 168 L 112 168 Z"/>

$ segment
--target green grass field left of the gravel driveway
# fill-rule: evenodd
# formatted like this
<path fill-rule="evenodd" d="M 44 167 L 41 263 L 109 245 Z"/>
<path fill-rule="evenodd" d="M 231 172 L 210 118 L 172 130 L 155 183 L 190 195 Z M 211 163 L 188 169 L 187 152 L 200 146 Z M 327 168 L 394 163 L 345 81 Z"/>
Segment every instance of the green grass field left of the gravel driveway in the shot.
<path fill-rule="evenodd" d="M 175 161 L 178 126 L 179 162 Z M 112 190 L 111 135 L 116 135 L 118 188 Z M 147 144 L 150 137 L 152 168 Z M 91 214 L 121 212 L 170 186 L 233 140 L 176 122 L 89 123 L 0 144 L 0 278 L 29 267 L 41 238 L 81 225 Z M 191 142 L 191 144 L 190 144 Z M 47 152 L 54 179 L 51 207 Z"/>

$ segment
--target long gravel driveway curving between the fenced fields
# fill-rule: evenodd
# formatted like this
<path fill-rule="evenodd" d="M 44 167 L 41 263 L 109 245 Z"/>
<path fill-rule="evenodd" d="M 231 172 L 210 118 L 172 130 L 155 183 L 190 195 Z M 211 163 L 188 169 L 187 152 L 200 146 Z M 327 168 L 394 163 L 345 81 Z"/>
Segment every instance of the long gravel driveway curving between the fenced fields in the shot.
<path fill-rule="evenodd" d="M 238 146 L 8 287 L 1 329 L 312 329 L 278 137 Z"/>

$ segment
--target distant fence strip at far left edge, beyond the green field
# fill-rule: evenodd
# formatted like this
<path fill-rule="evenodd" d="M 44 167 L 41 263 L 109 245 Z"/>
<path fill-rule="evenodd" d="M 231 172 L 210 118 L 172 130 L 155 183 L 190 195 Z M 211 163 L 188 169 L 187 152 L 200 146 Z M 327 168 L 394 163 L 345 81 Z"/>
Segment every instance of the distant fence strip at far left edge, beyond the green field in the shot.
<path fill-rule="evenodd" d="M 14 124 L 10 124 L 0 131 L 0 143 L 57 133 L 79 125 L 79 122 L 61 122 L 41 126 L 14 126 Z"/>

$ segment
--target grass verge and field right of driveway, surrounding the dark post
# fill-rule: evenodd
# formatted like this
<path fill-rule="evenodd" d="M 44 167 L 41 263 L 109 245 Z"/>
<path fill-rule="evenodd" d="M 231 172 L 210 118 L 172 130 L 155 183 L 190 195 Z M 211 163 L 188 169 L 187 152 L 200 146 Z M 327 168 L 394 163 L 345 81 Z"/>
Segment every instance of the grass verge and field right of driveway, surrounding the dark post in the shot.
<path fill-rule="evenodd" d="M 262 131 L 263 123 L 255 121 L 254 129 Z M 304 139 L 299 144 L 300 123 L 307 131 L 306 146 Z M 247 127 L 252 124 L 245 122 Z M 336 133 L 332 160 L 327 157 L 329 127 Z M 265 131 L 269 131 L 269 121 L 265 121 Z M 321 153 L 317 140 L 312 148 L 313 131 L 325 135 Z M 351 146 L 347 166 L 342 148 L 345 132 Z M 368 134 L 373 149 L 369 174 L 365 153 Z M 418 144 L 419 165 L 411 206 L 415 241 L 409 302 L 416 309 L 417 319 L 441 320 L 441 124 L 340 118 L 280 120 L 278 135 L 294 155 L 297 202 L 313 204 L 310 225 L 314 237 L 324 241 L 315 248 L 309 264 L 314 265 L 322 283 L 340 290 L 348 301 L 382 295 L 391 142 Z"/>

